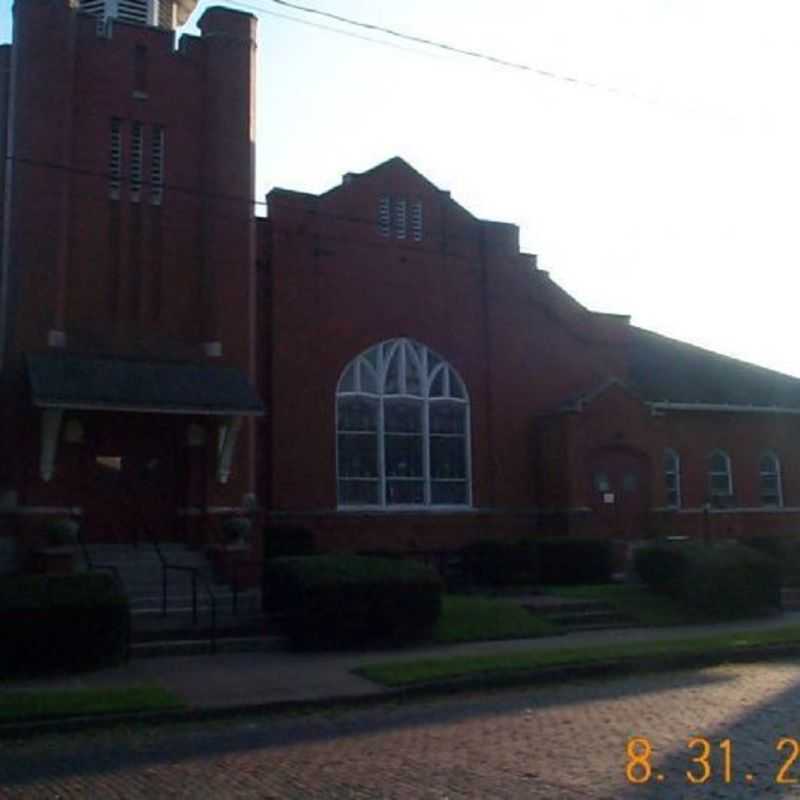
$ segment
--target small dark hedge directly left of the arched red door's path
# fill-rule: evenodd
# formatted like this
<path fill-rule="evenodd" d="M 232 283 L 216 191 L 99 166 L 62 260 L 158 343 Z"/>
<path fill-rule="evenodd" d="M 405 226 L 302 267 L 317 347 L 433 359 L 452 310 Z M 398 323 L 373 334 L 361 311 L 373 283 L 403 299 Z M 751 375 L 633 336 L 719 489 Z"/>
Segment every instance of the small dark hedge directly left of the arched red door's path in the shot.
<path fill-rule="evenodd" d="M 576 536 L 535 541 L 543 584 L 608 583 L 611 580 L 614 560 L 610 541 Z"/>

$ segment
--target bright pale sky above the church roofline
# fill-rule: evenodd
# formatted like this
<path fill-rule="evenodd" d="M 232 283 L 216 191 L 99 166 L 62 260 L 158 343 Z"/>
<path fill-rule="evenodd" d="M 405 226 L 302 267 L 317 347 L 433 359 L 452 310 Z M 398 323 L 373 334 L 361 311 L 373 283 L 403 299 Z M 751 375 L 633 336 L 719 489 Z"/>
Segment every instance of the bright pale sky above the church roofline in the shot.
<path fill-rule="evenodd" d="M 401 155 L 587 307 L 800 375 L 796 0 L 303 4 L 578 82 L 250 0 L 259 199 Z"/>

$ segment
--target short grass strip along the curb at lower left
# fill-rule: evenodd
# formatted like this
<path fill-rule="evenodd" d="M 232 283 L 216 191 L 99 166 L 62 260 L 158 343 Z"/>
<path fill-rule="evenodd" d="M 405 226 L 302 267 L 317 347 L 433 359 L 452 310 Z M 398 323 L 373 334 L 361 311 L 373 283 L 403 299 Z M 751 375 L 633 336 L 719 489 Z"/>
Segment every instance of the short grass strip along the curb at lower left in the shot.
<path fill-rule="evenodd" d="M 126 689 L 63 689 L 0 691 L 0 722 L 25 722 L 41 717 L 125 714 L 184 708 L 172 692 L 158 686 Z"/>

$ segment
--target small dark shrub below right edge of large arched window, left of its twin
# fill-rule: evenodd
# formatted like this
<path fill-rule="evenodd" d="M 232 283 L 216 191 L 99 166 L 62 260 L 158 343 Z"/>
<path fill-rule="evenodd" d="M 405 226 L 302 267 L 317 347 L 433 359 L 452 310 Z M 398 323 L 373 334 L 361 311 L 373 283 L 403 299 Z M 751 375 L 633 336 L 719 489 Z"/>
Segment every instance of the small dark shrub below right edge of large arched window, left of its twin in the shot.
<path fill-rule="evenodd" d="M 533 539 L 481 539 L 461 551 L 463 569 L 478 586 L 519 586 L 539 582 L 537 543 Z"/>

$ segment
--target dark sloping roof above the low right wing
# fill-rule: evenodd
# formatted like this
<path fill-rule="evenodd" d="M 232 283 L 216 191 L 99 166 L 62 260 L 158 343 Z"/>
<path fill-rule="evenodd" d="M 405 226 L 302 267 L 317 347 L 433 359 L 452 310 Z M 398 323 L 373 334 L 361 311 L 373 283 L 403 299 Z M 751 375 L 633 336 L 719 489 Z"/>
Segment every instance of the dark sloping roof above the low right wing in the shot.
<path fill-rule="evenodd" d="M 629 383 L 646 401 L 800 409 L 800 379 L 631 326 Z"/>

